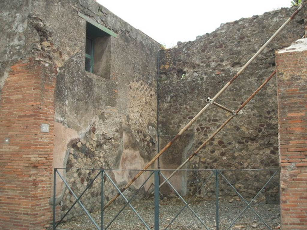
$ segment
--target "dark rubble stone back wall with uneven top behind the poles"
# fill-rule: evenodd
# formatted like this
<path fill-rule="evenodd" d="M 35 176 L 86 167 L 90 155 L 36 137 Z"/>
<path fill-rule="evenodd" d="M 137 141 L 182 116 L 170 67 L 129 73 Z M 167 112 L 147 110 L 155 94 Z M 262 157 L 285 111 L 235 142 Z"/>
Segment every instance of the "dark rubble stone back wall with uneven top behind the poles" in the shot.
<path fill-rule="evenodd" d="M 282 8 L 261 16 L 221 24 L 216 31 L 198 36 L 195 41 L 178 42 L 176 47 L 161 51 L 160 149 L 191 121 L 207 104 L 206 99 L 215 96 L 295 10 L 296 8 Z M 274 51 L 287 47 L 302 37 L 303 23 L 304 16 L 301 12 L 216 102 L 232 110 L 237 109 L 274 71 Z M 161 167 L 177 168 L 228 116 L 228 112 L 210 106 L 185 135 L 162 155 Z M 186 166 L 188 169 L 278 167 L 277 97 L 274 80 Z M 241 176 L 244 178 L 244 175 Z M 248 188 L 260 189 L 267 176 L 257 176 L 258 182 L 255 184 L 249 184 L 248 181 L 254 182 L 255 179 L 249 180 L 247 176 L 243 183 L 246 186 L 242 190 L 248 194 Z M 173 180 L 177 181 L 177 188 L 182 194 L 197 186 L 195 178 L 185 173 Z"/>

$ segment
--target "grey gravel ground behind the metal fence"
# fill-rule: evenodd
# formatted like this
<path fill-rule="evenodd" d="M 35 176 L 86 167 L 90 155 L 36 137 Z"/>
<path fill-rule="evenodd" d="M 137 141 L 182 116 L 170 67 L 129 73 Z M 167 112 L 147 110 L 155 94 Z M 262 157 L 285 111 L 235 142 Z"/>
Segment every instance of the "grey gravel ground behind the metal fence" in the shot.
<path fill-rule="evenodd" d="M 185 197 L 186 198 L 186 197 Z M 187 202 L 190 200 L 187 198 Z M 153 198 L 146 200 L 133 201 L 132 205 L 148 224 L 150 229 L 154 226 L 154 200 Z M 231 199 L 229 201 L 221 201 L 220 205 L 220 230 L 227 229 L 231 222 L 239 215 L 239 213 L 246 207 L 244 201 Z M 167 197 L 160 200 L 160 229 L 165 229 L 176 214 L 185 206 L 183 201 L 178 197 Z M 216 201 L 205 200 L 204 198 L 193 198 L 189 205 L 204 224 L 210 230 L 216 229 Z M 251 205 L 253 209 L 263 218 L 263 220 L 273 229 L 279 229 L 280 213 L 279 205 L 265 204 L 263 202 L 253 202 Z M 115 215 L 122 209 L 123 204 L 115 204 L 105 210 L 104 213 L 104 228 L 110 223 Z M 91 213 L 94 220 L 100 226 L 100 210 Z M 61 223 L 57 229 L 70 230 L 91 230 L 96 229 L 95 225 L 87 215 L 82 215 L 77 218 Z M 137 215 L 130 207 L 126 207 L 123 212 L 116 218 L 116 220 L 107 229 L 125 229 L 138 230 L 147 229 L 138 219 Z M 187 207 L 177 217 L 177 219 L 167 229 L 206 229 L 201 222 L 194 216 L 192 211 Z M 261 220 L 253 213 L 251 209 L 247 209 L 242 216 L 235 222 L 230 229 L 240 230 L 255 230 L 255 229 L 269 229 Z"/>

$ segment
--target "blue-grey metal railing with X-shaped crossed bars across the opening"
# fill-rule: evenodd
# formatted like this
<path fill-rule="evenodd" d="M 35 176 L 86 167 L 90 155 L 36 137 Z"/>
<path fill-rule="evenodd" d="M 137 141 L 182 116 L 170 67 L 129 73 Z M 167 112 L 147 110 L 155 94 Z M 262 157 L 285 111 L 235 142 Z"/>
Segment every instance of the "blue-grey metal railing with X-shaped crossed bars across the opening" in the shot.
<path fill-rule="evenodd" d="M 154 230 L 159 230 L 159 178 L 164 179 L 164 182 L 167 183 L 169 185 L 169 187 L 175 192 L 175 194 L 177 194 L 177 196 L 180 198 L 180 200 L 185 204 L 184 207 L 182 207 L 180 209 L 179 212 L 177 212 L 175 214 L 175 216 L 173 217 L 173 219 L 169 222 L 169 224 L 167 224 L 167 226 L 163 229 L 167 230 L 172 224 L 173 222 L 178 218 L 178 216 L 186 209 L 188 208 L 193 215 L 196 217 L 196 219 L 201 223 L 201 225 L 206 229 L 206 230 L 210 230 L 212 228 L 209 228 L 206 224 L 205 224 L 205 220 L 203 220 L 190 206 L 190 202 L 187 202 L 180 194 L 179 192 L 175 189 L 175 187 L 173 186 L 173 184 L 169 181 L 169 179 L 164 175 L 163 171 L 172 171 L 172 170 L 146 170 L 147 172 L 150 173 L 150 175 L 142 182 L 142 185 L 139 187 L 139 189 L 137 189 L 134 194 L 132 195 L 132 197 L 130 199 L 127 199 L 127 197 L 123 194 L 124 191 L 122 191 L 114 182 L 114 180 L 111 178 L 111 176 L 109 175 L 109 171 L 115 171 L 114 169 L 90 169 L 90 168 L 72 168 L 72 169 L 83 169 L 83 170 L 94 170 L 94 171 L 98 171 L 98 173 L 95 175 L 95 177 L 93 178 L 93 180 L 91 180 L 91 182 L 87 185 L 87 187 L 82 191 L 82 193 L 80 194 L 80 196 L 77 196 L 75 191 L 73 191 L 72 187 L 69 186 L 68 182 L 65 180 L 64 176 L 59 172 L 59 169 L 65 169 L 65 168 L 55 168 L 54 169 L 54 187 L 53 187 L 53 230 L 58 229 L 57 227 L 59 226 L 59 224 L 61 224 L 64 220 L 64 218 L 68 215 L 68 213 L 72 210 L 72 208 L 76 205 L 76 203 L 78 203 L 80 205 L 80 207 L 84 210 L 84 212 L 86 213 L 86 215 L 88 216 L 88 218 L 91 220 L 91 222 L 95 225 L 95 229 L 97 230 L 107 230 L 109 229 L 109 227 L 111 226 L 111 224 L 119 217 L 119 215 L 122 213 L 122 211 L 126 208 L 126 206 L 129 206 L 130 209 L 134 212 L 134 214 L 136 215 L 136 217 L 138 217 L 138 219 L 140 220 L 140 222 L 142 222 L 142 224 L 144 225 L 144 227 L 148 230 L 150 230 L 151 228 L 149 227 L 149 224 L 146 223 L 146 221 L 144 220 L 144 218 L 138 213 L 138 211 L 134 208 L 134 206 L 131 204 L 131 201 L 134 199 L 134 197 L 139 193 L 139 191 L 142 189 L 142 187 L 146 184 L 146 182 L 148 182 L 148 180 L 152 177 L 152 175 L 154 175 Z M 120 171 L 131 171 L 131 170 L 120 170 Z M 132 170 L 134 171 L 134 170 Z M 220 205 L 219 205 L 219 185 L 220 185 L 220 178 L 222 178 L 234 191 L 235 193 L 239 196 L 240 199 L 242 199 L 245 204 L 246 207 L 240 212 L 240 214 L 231 222 L 231 224 L 225 228 L 225 229 L 230 229 L 235 222 L 242 216 L 242 214 L 247 210 L 247 209 L 251 209 L 251 211 L 258 217 L 258 219 L 266 226 L 267 229 L 272 230 L 272 228 L 270 228 L 270 226 L 265 222 L 265 220 L 263 220 L 263 218 L 255 211 L 254 208 L 251 207 L 251 203 L 258 197 L 258 195 L 262 192 L 262 190 L 271 182 L 271 180 L 275 177 L 275 175 L 280 171 L 279 169 L 243 169 L 243 170 L 180 170 L 180 171 L 207 171 L 207 172 L 211 172 L 210 176 L 208 176 L 203 182 L 202 185 L 197 189 L 196 193 L 191 197 L 194 198 L 196 196 L 196 194 L 198 194 L 198 192 L 204 188 L 204 186 L 206 185 L 206 183 L 214 176 L 215 177 L 215 187 L 216 187 L 216 230 L 220 229 Z M 248 202 L 245 198 L 243 198 L 243 196 L 239 193 L 239 191 L 231 184 L 231 182 L 229 181 L 228 178 L 226 178 L 226 176 L 224 175 L 224 172 L 227 171 L 273 171 L 273 175 L 270 176 L 269 180 L 263 185 L 263 187 L 258 191 L 258 193 L 255 195 L 255 197 L 253 197 L 253 199 Z M 58 175 L 61 179 L 61 181 L 64 182 L 65 186 L 67 187 L 67 189 L 70 191 L 70 193 L 75 197 L 76 201 L 73 202 L 72 206 L 64 213 L 64 215 L 61 217 L 60 220 L 56 220 L 56 175 Z M 89 213 L 89 211 L 86 209 L 86 207 L 84 206 L 84 204 L 80 201 L 81 197 L 84 195 L 84 193 L 92 186 L 92 184 L 94 183 L 94 181 L 99 177 L 99 175 L 101 176 L 101 204 L 100 204 L 100 209 L 101 209 L 101 218 L 100 218 L 100 226 L 99 224 L 97 224 L 97 222 L 94 220 L 94 218 L 91 216 L 91 213 Z M 115 189 L 117 190 L 117 192 L 120 193 L 120 195 L 122 196 L 122 198 L 125 201 L 125 204 L 123 205 L 123 207 L 120 209 L 120 211 L 115 215 L 115 217 L 107 224 L 104 224 L 104 177 L 106 179 L 108 179 L 111 184 L 115 187 Z M 60 230 L 60 229 L 58 229 Z"/>

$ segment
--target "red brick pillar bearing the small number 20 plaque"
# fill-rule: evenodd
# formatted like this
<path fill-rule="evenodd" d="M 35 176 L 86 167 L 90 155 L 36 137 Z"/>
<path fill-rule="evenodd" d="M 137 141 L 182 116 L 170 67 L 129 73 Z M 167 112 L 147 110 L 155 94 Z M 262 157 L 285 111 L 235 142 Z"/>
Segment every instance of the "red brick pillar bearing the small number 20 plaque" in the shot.
<path fill-rule="evenodd" d="M 11 70 L 0 98 L 0 229 L 43 229 L 52 214 L 55 69 L 28 60 Z"/>

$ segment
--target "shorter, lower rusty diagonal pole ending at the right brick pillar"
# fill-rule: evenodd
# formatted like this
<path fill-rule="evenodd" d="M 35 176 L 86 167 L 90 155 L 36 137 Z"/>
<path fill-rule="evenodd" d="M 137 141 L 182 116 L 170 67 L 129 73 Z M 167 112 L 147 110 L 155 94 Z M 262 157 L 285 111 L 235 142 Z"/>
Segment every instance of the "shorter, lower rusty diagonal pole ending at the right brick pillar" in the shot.
<path fill-rule="evenodd" d="M 243 109 L 243 107 L 253 98 L 253 97 L 255 97 L 255 95 L 263 88 L 263 86 L 265 86 L 266 85 L 266 83 L 267 82 L 269 82 L 270 81 L 270 79 L 274 76 L 276 74 L 276 70 L 274 70 L 274 72 L 273 73 L 271 73 L 271 75 L 261 84 L 261 86 L 259 86 L 258 87 L 258 89 L 253 93 L 253 94 L 251 94 L 251 96 L 249 97 L 249 98 L 247 98 L 247 100 L 239 107 L 239 109 L 237 109 L 236 111 L 235 111 L 235 113 L 234 114 L 232 114 L 230 117 L 228 117 L 228 119 L 226 120 L 226 121 L 224 121 L 224 123 L 214 132 L 214 133 L 212 133 L 212 135 L 192 154 L 192 155 L 190 155 L 189 156 L 189 158 L 188 159 L 186 159 L 175 171 L 173 171 L 173 173 L 172 174 L 170 174 L 169 175 L 169 177 L 167 178 L 167 180 L 169 180 L 170 178 L 172 178 L 173 177 L 173 175 L 175 175 L 176 174 L 176 172 L 178 171 L 178 170 L 180 170 L 189 160 L 191 160 L 202 148 L 204 148 L 204 146 L 218 133 L 218 132 L 220 132 L 221 131 L 221 129 L 225 126 L 225 125 L 227 125 L 227 123 L 229 122 L 229 121 L 231 121 L 231 119 L 233 118 L 233 117 L 235 117 L 235 115 L 236 114 L 238 114 L 239 113 L 239 111 L 241 110 L 241 109 Z M 166 181 L 163 181 L 161 184 L 160 184 L 160 186 L 159 187 L 161 187 L 161 186 L 163 186 L 164 184 L 165 184 L 165 182 Z"/>

